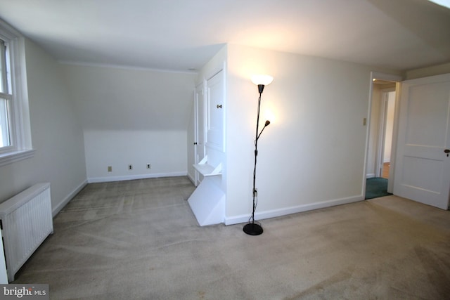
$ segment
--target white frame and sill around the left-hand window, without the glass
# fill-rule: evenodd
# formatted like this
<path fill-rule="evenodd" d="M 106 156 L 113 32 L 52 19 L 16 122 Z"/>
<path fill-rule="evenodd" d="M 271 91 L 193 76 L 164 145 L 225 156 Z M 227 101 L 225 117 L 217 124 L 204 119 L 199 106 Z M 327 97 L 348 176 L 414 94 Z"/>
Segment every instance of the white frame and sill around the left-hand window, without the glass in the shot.
<path fill-rule="evenodd" d="M 0 39 L 8 49 L 10 67 L 8 99 L 10 145 L 0 149 L 0 167 L 34 156 L 31 139 L 30 109 L 28 105 L 25 67 L 25 38 L 13 27 L 0 20 Z"/>

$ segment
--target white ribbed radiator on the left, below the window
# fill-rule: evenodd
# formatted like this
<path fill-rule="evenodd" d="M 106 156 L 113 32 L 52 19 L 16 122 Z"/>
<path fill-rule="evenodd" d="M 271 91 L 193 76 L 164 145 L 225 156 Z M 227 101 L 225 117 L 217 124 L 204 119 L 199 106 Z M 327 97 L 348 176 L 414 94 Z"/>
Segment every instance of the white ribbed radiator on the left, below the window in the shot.
<path fill-rule="evenodd" d="M 50 183 L 38 183 L 0 204 L 8 281 L 53 233 Z"/>

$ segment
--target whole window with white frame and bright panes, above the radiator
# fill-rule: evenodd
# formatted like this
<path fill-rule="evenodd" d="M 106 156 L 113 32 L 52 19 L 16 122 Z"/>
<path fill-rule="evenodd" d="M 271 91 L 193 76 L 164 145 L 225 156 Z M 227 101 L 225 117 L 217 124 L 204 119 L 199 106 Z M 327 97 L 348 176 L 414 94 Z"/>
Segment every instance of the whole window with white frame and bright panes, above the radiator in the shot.
<path fill-rule="evenodd" d="M 0 20 L 0 166 L 32 157 L 25 41 Z"/>

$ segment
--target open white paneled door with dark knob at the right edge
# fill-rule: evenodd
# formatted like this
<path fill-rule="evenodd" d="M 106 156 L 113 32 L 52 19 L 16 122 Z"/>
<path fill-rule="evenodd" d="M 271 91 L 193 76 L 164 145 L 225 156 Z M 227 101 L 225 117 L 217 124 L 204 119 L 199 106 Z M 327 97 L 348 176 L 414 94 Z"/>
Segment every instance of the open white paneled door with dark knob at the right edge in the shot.
<path fill-rule="evenodd" d="M 394 195 L 449 209 L 450 74 L 403 81 Z"/>

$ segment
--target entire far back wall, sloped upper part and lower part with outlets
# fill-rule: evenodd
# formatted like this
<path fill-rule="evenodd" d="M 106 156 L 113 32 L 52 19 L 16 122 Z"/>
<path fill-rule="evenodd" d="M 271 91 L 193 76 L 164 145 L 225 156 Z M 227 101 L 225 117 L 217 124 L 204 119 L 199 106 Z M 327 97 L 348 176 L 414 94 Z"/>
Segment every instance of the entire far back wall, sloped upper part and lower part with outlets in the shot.
<path fill-rule="evenodd" d="M 82 122 L 90 182 L 187 174 L 187 128 L 196 74 L 63 68 Z M 148 163 L 151 169 L 146 169 Z"/>

